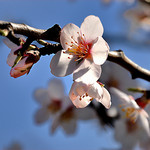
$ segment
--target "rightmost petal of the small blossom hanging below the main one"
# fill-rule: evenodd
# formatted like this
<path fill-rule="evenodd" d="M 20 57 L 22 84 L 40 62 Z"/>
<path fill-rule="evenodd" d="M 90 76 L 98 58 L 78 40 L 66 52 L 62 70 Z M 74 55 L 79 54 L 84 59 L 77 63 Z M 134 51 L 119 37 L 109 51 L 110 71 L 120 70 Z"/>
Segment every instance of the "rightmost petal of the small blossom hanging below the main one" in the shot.
<path fill-rule="evenodd" d="M 96 99 L 98 100 L 99 102 L 101 102 L 107 109 L 110 108 L 111 106 L 111 97 L 110 97 L 110 94 L 109 92 L 104 88 L 102 87 L 103 89 L 103 94 L 102 94 L 102 98 L 101 99 Z"/>

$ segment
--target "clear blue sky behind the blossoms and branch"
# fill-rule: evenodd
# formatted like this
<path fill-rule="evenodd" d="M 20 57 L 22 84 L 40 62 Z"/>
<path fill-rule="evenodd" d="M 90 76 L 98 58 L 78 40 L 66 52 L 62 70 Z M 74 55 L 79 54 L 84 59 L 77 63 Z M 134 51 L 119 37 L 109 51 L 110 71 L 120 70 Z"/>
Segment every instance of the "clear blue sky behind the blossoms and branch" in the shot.
<path fill-rule="evenodd" d="M 109 38 L 110 49 L 122 49 L 125 54 L 140 66 L 150 69 L 149 45 L 138 38 L 128 41 L 129 22 L 123 18 L 123 12 L 131 6 L 126 3 L 103 5 L 98 0 L 56 0 L 56 1 L 0 1 L 0 20 L 25 23 L 35 28 L 48 29 L 54 24 L 60 27 L 68 23 L 78 26 L 88 15 L 98 16 L 104 26 L 104 37 Z M 116 38 L 116 40 L 115 40 Z M 117 148 L 113 132 L 103 131 L 97 121 L 78 122 L 77 132 L 67 136 L 59 128 L 50 135 L 51 122 L 37 126 L 33 116 L 39 108 L 34 101 L 33 92 L 37 88 L 46 88 L 49 79 L 52 56 L 43 56 L 34 65 L 28 76 L 17 79 L 10 77 L 10 67 L 6 64 L 10 50 L 0 37 L 0 150 L 18 141 L 24 150 L 100 150 Z M 106 39 L 107 40 L 107 39 Z M 66 87 L 66 94 L 72 84 L 71 77 L 61 78 Z M 143 86 L 148 83 L 140 80 Z"/>

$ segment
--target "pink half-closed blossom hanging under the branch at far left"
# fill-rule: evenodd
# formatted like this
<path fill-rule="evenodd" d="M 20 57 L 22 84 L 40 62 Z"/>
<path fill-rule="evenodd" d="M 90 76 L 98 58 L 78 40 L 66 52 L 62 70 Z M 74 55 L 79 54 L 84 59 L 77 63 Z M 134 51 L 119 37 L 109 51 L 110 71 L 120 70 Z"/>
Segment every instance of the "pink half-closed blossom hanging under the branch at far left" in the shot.
<path fill-rule="evenodd" d="M 17 78 L 26 73 L 28 74 L 33 64 L 40 59 L 40 53 L 37 50 L 27 50 L 23 56 L 18 56 L 18 50 L 22 48 L 24 43 L 23 39 L 21 39 L 20 46 L 17 46 L 8 39 L 5 39 L 4 43 L 11 48 L 11 52 L 7 57 L 7 64 L 12 67 L 10 71 L 11 77 Z"/>

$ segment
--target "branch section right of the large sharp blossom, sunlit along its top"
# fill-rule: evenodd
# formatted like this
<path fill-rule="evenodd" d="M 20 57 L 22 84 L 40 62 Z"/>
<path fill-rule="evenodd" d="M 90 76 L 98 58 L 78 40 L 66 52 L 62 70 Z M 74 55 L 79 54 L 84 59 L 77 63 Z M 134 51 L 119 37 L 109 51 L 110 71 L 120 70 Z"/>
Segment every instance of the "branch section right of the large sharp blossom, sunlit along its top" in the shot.
<path fill-rule="evenodd" d="M 150 71 L 131 61 L 121 50 L 110 51 L 107 60 L 115 62 L 127 69 L 131 73 L 132 79 L 141 78 L 150 81 Z"/>

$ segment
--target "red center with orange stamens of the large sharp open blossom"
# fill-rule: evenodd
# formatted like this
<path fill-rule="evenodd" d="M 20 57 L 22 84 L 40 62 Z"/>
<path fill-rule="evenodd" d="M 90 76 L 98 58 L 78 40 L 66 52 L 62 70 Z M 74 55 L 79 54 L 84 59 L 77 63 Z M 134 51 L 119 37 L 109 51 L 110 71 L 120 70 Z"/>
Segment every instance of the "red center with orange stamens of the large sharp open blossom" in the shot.
<path fill-rule="evenodd" d="M 85 40 L 85 36 L 84 34 L 80 34 L 79 32 L 77 32 L 79 34 L 79 40 L 78 42 L 73 38 L 73 36 L 71 36 L 71 43 L 67 45 L 69 45 L 69 48 L 67 49 L 67 53 L 69 53 L 70 55 L 75 55 L 76 59 L 75 61 L 79 61 L 83 58 L 89 58 L 90 56 L 90 50 L 92 47 L 92 43 L 87 43 Z M 68 57 L 69 58 L 69 57 Z"/>

